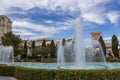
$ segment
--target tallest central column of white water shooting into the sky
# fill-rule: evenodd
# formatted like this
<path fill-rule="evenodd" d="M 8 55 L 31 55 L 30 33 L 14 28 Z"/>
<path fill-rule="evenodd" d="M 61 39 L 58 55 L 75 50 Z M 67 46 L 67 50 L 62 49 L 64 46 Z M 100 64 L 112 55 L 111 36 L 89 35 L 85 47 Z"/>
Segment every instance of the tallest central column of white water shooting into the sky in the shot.
<path fill-rule="evenodd" d="M 76 19 L 75 31 L 76 31 L 76 37 L 74 43 L 75 65 L 79 67 L 84 67 L 86 65 L 85 47 L 82 37 L 82 26 L 79 18 Z"/>

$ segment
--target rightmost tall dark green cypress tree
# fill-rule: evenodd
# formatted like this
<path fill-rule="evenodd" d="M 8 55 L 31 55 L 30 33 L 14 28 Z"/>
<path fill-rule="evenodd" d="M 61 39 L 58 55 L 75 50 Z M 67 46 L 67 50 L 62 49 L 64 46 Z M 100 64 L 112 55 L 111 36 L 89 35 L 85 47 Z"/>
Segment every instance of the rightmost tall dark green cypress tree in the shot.
<path fill-rule="evenodd" d="M 116 35 L 112 36 L 112 52 L 114 54 L 115 57 L 119 58 L 119 50 L 118 50 L 118 38 Z"/>

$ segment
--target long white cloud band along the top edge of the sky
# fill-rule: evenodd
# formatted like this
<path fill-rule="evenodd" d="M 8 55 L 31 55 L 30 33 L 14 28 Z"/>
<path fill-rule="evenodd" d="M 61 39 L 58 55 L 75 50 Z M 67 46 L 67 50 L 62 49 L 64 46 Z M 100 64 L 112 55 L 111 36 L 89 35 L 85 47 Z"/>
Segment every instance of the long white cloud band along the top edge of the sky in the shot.
<path fill-rule="evenodd" d="M 62 10 L 74 11 L 78 8 L 88 9 L 100 3 L 108 2 L 109 0 L 1 0 L 2 8 L 18 7 L 23 10 L 29 10 L 34 7 L 56 10 L 58 7 Z M 89 4 L 89 5 L 88 5 Z"/>

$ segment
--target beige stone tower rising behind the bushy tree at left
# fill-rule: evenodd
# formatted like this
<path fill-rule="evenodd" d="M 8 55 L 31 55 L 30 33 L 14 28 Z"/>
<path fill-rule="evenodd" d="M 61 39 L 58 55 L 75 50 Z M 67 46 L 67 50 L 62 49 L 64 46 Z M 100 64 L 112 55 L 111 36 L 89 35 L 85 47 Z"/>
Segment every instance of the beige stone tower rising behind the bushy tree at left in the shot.
<path fill-rule="evenodd" d="M 0 44 L 1 37 L 12 30 L 12 21 L 5 15 L 0 15 Z"/>

